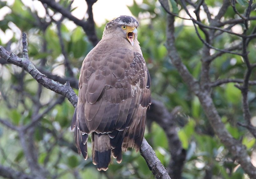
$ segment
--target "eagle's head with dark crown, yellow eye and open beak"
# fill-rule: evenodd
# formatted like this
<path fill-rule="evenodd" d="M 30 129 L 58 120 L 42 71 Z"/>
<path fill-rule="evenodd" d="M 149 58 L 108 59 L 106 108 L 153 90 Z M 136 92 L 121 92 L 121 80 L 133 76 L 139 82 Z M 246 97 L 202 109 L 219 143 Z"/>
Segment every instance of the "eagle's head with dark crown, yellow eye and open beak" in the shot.
<path fill-rule="evenodd" d="M 133 46 L 134 39 L 137 39 L 137 27 L 139 22 L 131 16 L 120 16 L 106 23 L 103 37 L 107 34 L 117 35 L 126 38 Z"/>

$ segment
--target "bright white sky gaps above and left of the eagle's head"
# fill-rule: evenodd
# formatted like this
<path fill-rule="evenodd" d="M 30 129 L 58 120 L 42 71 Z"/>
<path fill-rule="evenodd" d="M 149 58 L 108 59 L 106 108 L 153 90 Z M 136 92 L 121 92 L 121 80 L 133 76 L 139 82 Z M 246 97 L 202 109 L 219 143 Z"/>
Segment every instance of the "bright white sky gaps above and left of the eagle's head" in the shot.
<path fill-rule="evenodd" d="M 12 5 L 14 0 L 0 0 L 0 1 L 7 1 L 8 5 Z M 57 0 L 56 0 L 57 1 Z M 32 11 L 37 11 L 37 14 L 39 17 L 45 16 L 45 10 L 42 6 L 42 3 L 38 0 L 22 0 L 22 2 L 30 7 Z M 137 3 L 141 4 L 142 0 L 136 0 Z M 101 26 L 102 24 L 105 24 L 106 21 L 110 21 L 116 17 L 119 17 L 121 15 L 132 15 L 130 10 L 128 9 L 128 6 L 133 5 L 133 0 L 98 0 L 92 7 L 93 15 L 94 15 L 94 21 L 97 26 Z M 72 8 L 77 7 L 74 11 L 72 11 L 72 15 L 83 19 L 86 16 L 86 10 L 87 10 L 87 4 L 85 0 L 74 0 L 72 4 Z M 0 9 L 0 20 L 3 20 L 4 16 L 7 13 L 11 13 L 10 8 L 4 7 Z M 73 23 L 70 23 L 68 25 L 71 29 L 75 28 L 76 26 Z M 9 27 L 12 30 L 7 30 L 3 32 L 0 29 L 0 38 L 2 43 L 7 43 L 14 35 L 20 36 L 19 30 L 15 26 L 15 24 L 11 23 L 9 24 Z M 15 32 L 15 34 L 13 33 Z"/>

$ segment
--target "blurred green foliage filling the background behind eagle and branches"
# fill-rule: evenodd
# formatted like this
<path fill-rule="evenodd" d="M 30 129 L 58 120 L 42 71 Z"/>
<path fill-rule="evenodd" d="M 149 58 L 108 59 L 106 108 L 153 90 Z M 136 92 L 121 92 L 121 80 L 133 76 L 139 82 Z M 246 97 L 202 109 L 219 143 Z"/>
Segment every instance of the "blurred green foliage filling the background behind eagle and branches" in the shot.
<path fill-rule="evenodd" d="M 71 1 L 60 0 L 63 6 Z M 168 1 L 171 12 L 184 12 L 181 5 L 174 0 Z M 209 10 L 219 8 L 222 1 L 206 1 Z M 13 4 L 0 1 L 3 7 L 9 7 L 11 13 L 6 14 L 0 22 L 3 32 L 12 31 L 12 39 L 1 45 L 10 51 L 22 56 L 20 47 L 21 31 L 28 36 L 28 56 L 32 63 L 40 69 L 58 74 L 61 77 L 73 77 L 78 79 L 81 63 L 86 54 L 93 48 L 91 41 L 85 35 L 82 27 L 69 27 L 69 20 L 60 19 L 58 14 L 53 14 L 48 9 L 45 17 L 38 17 L 37 12 L 27 7 L 20 0 Z M 236 8 L 244 13 L 248 2 L 238 0 Z M 254 2 L 255 7 L 255 2 Z M 148 65 L 151 76 L 151 93 L 154 99 L 163 101 L 170 111 L 176 106 L 182 110 L 175 116 L 176 130 L 182 147 L 186 150 L 182 178 L 246 178 L 244 170 L 239 163 L 234 161 L 231 153 L 225 148 L 219 138 L 214 135 L 209 121 L 202 109 L 198 97 L 191 93 L 189 87 L 184 84 L 175 66 L 168 57 L 165 48 L 166 42 L 166 12 L 160 3 L 155 0 L 143 0 L 142 4 L 134 1 L 128 7 L 139 22 L 138 40 L 143 56 Z M 1 10 L 1 9 L 0 9 Z M 256 11 L 251 12 L 256 16 Z M 232 7 L 224 15 L 225 20 L 236 18 L 237 13 Z M 56 20 L 57 19 L 57 20 Z M 195 79 L 200 80 L 202 73 L 203 42 L 198 38 L 193 24 L 187 24 L 185 20 L 176 18 L 175 46 L 180 57 Z M 206 18 L 203 19 L 206 21 Z M 61 23 L 58 28 L 58 23 Z M 248 34 L 255 33 L 256 21 L 251 21 Z M 96 27 L 96 33 L 100 39 L 104 25 Z M 236 25 L 237 29 L 243 29 L 243 24 Z M 61 37 L 60 35 L 61 34 Z M 203 32 L 199 34 L 204 37 Z M 60 38 L 64 49 L 60 45 Z M 1 38 L 2 40 L 2 38 Z M 3 41 L 3 40 L 2 40 Z M 213 40 L 213 46 L 224 49 L 230 44 L 237 43 L 239 37 L 221 34 Z M 256 63 L 255 38 L 248 44 L 249 59 Z M 66 52 L 68 63 L 74 73 L 72 75 L 65 68 Z M 216 52 L 213 50 L 213 52 Z M 2 61 L 0 61 L 2 63 Z M 218 56 L 210 65 L 210 79 L 243 79 L 246 65 L 240 56 L 225 53 Z M 250 80 L 255 80 L 255 68 Z M 250 156 L 255 156 L 255 138 L 248 130 L 238 122 L 243 122 L 242 94 L 235 87 L 236 83 L 224 83 L 212 89 L 211 96 L 226 129 L 236 139 L 241 139 L 247 147 Z M 78 93 L 77 87 L 74 87 Z M 43 114 L 36 125 L 32 141 L 37 153 L 40 166 L 48 172 L 49 178 L 154 178 L 145 160 L 134 150 L 123 153 L 121 164 L 113 160 L 113 164 L 107 172 L 97 172 L 91 162 L 90 138 L 88 152 L 89 157 L 85 161 L 77 154 L 74 145 L 73 132 L 70 130 L 70 122 L 74 112 L 73 106 L 65 99 L 58 103 L 60 95 L 37 84 L 32 77 L 12 64 L 0 64 L 0 119 L 5 119 L 17 128 L 30 124 L 35 116 Z M 249 86 L 248 101 L 252 118 L 256 116 L 256 87 Z M 52 106 L 49 110 L 48 107 Z M 46 113 L 44 113 L 47 111 Z M 156 123 L 148 123 L 145 138 L 153 147 L 161 163 L 167 167 L 172 156 L 168 146 L 168 138 L 165 131 Z M 12 167 L 26 174 L 31 173 L 31 168 L 26 161 L 26 148 L 21 144 L 20 136 L 16 130 L 12 130 L 4 123 L 0 124 L 0 165 Z M 209 175 L 210 173 L 210 175 Z M 1 174 L 0 174 L 1 178 Z"/>

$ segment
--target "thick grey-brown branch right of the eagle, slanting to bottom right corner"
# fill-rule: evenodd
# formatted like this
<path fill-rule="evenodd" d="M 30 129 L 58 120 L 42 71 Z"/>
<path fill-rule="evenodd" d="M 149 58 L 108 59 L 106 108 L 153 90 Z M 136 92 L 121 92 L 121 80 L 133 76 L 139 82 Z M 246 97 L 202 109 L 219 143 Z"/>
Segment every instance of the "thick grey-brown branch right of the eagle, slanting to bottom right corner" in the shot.
<path fill-rule="evenodd" d="M 179 71 L 181 77 L 185 83 L 189 86 L 190 90 L 198 96 L 200 103 L 204 109 L 204 112 L 209 119 L 209 122 L 214 129 L 215 134 L 219 137 L 224 146 L 232 153 L 232 155 L 241 164 L 241 167 L 251 178 L 256 178 L 256 168 L 252 165 L 250 157 L 247 154 L 246 147 L 241 144 L 239 140 L 234 139 L 231 134 L 227 131 L 222 123 L 221 118 L 213 104 L 210 93 L 201 88 L 198 83 L 194 81 L 193 77 L 185 68 L 182 63 L 180 56 L 175 49 L 175 38 L 174 38 L 174 16 L 167 15 L 167 50 L 168 55 L 172 60 L 172 63 Z"/>

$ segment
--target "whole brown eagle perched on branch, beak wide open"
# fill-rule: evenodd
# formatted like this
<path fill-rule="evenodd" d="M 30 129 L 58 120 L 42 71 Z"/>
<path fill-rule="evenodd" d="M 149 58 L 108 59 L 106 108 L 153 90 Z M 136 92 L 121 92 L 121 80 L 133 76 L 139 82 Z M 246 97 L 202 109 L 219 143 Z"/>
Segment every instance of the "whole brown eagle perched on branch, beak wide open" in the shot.
<path fill-rule="evenodd" d="M 120 163 L 122 151 L 140 149 L 150 75 L 137 40 L 138 21 L 120 16 L 106 23 L 101 41 L 85 57 L 79 77 L 78 102 L 72 118 L 79 154 L 87 158 L 91 133 L 92 161 L 106 171 L 111 155 Z"/>

